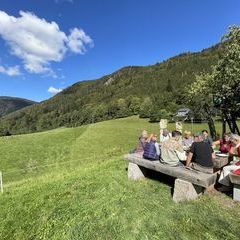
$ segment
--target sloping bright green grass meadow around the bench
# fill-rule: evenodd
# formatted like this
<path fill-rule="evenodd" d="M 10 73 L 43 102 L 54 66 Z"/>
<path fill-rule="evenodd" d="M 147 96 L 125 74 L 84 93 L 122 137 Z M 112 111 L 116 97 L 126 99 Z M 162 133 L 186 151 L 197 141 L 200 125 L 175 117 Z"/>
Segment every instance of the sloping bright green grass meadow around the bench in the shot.
<path fill-rule="evenodd" d="M 142 129 L 159 131 L 130 117 L 1 138 L 0 239 L 239 239 L 230 197 L 176 204 L 172 181 L 127 179 L 122 155 Z"/>

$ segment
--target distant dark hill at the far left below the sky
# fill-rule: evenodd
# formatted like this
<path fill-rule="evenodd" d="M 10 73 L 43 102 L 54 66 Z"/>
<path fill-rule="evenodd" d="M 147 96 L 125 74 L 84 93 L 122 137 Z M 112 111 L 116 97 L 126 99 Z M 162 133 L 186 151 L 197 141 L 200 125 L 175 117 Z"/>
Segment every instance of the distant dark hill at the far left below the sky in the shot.
<path fill-rule="evenodd" d="M 35 103 L 23 98 L 2 96 L 0 97 L 0 117 Z"/>

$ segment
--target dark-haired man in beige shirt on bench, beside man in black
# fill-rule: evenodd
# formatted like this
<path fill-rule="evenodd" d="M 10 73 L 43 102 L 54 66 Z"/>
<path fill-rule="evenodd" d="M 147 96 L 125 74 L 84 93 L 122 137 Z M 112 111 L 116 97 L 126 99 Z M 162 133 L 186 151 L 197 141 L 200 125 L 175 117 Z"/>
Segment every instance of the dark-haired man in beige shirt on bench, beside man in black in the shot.
<path fill-rule="evenodd" d="M 180 143 L 181 132 L 173 131 L 172 137 L 161 144 L 161 159 L 162 163 L 169 164 L 170 166 L 181 166 L 181 161 L 186 160 L 186 154 L 183 146 Z"/>

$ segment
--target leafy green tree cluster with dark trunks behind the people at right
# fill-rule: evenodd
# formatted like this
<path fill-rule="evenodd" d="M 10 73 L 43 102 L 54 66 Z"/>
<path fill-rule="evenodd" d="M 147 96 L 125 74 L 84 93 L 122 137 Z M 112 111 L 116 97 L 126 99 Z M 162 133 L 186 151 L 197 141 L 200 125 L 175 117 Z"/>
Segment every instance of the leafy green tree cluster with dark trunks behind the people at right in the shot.
<path fill-rule="evenodd" d="M 212 73 L 196 76 L 188 90 L 189 100 L 204 109 L 211 135 L 216 131 L 212 120 L 213 104 L 222 111 L 232 132 L 238 133 L 237 117 L 240 116 L 240 27 L 232 26 L 222 38 L 225 51 Z M 226 129 L 225 127 L 223 127 Z"/>

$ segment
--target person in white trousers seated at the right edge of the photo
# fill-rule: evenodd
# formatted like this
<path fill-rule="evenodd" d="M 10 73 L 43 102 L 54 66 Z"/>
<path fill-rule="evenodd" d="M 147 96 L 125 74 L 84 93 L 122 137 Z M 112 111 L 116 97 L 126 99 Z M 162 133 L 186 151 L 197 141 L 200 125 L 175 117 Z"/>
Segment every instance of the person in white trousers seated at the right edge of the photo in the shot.
<path fill-rule="evenodd" d="M 240 136 L 238 136 L 237 134 L 231 134 L 230 141 L 232 143 L 232 147 L 229 151 L 229 154 L 234 157 L 240 158 Z M 221 183 L 224 187 L 219 188 L 220 191 L 228 191 L 231 189 L 229 173 L 237 169 L 240 169 L 239 162 L 235 163 L 234 161 L 232 161 L 230 165 L 223 168 L 218 182 Z"/>

